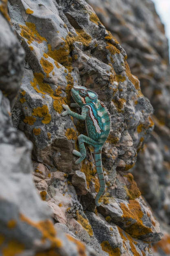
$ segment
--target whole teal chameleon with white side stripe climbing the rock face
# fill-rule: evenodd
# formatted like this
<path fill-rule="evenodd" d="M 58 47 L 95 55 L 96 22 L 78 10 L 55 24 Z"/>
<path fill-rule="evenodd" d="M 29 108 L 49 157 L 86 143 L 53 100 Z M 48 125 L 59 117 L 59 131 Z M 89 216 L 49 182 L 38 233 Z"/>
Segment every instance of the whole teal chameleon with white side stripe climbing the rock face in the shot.
<path fill-rule="evenodd" d="M 108 138 L 111 126 L 111 117 L 108 109 L 102 101 L 98 99 L 98 94 L 92 90 L 86 89 L 84 86 L 74 86 L 71 89 L 71 95 L 75 103 L 71 103 L 71 107 L 80 107 L 81 115 L 70 110 L 68 105 L 62 105 L 66 110 L 62 116 L 70 115 L 79 120 L 85 120 L 88 137 L 80 134 L 78 136 L 79 150 L 73 150 L 72 153 L 79 157 L 75 164 L 79 164 L 86 157 L 86 148 L 84 142 L 94 148 L 94 159 L 99 179 L 100 189 L 95 198 L 96 206 L 99 206 L 99 199 L 105 190 L 105 179 L 102 168 L 102 148 Z"/>

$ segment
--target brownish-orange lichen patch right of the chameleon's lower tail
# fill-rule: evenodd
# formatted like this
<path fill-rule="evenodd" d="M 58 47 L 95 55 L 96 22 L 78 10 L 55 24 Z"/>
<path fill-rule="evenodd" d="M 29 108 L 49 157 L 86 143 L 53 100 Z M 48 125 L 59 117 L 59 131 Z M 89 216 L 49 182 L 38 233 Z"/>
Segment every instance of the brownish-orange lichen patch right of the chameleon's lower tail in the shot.
<path fill-rule="evenodd" d="M 128 195 L 129 199 L 134 200 L 135 198 L 138 198 L 141 195 L 141 192 L 139 191 L 139 188 L 133 179 L 133 175 L 131 173 L 123 175 L 124 177 L 127 177 L 128 182 L 130 185 L 124 186 L 126 193 Z"/>

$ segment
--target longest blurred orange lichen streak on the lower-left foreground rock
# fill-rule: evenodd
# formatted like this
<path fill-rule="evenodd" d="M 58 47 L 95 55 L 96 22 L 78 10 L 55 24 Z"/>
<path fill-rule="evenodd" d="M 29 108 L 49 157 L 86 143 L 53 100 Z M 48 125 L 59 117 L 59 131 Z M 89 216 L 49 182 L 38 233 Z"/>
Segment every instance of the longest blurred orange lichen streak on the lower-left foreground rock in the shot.
<path fill-rule="evenodd" d="M 52 248 L 61 248 L 62 241 L 59 238 L 56 238 L 56 231 L 51 220 L 43 220 L 40 222 L 33 222 L 26 218 L 24 215 L 20 214 L 20 220 L 26 222 L 27 224 L 35 227 L 40 232 L 42 232 L 42 243 L 45 243 L 46 240 L 51 241 Z M 53 254 L 52 254 L 53 255 Z M 54 254 L 55 255 L 55 254 Z"/>

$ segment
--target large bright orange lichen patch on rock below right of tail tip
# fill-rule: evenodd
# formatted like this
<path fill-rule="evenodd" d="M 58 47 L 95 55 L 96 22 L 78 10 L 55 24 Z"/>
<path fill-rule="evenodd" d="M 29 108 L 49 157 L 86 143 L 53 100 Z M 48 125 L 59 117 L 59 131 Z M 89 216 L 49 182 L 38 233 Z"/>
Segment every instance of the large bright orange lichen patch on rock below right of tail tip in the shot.
<path fill-rule="evenodd" d="M 132 237 L 140 238 L 148 233 L 152 233 L 152 229 L 143 224 L 142 217 L 144 213 L 141 211 L 140 204 L 137 200 L 129 200 L 128 207 L 124 203 L 120 203 L 120 206 L 123 211 L 122 218 L 124 221 L 129 222 L 130 220 L 135 220 L 135 223 L 132 223 L 132 225 L 129 225 L 125 229 L 128 234 Z"/>

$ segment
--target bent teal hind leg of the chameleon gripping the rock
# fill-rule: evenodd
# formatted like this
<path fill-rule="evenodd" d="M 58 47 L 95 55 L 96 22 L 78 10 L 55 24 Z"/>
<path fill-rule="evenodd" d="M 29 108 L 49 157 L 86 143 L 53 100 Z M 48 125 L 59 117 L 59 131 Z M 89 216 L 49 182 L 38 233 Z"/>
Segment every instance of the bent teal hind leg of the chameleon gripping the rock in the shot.
<path fill-rule="evenodd" d="M 80 134 L 78 139 L 78 143 L 79 143 L 79 151 L 77 150 L 73 150 L 72 153 L 73 155 L 79 157 L 76 161 L 75 164 L 79 164 L 82 162 L 82 160 L 84 160 L 84 158 L 86 157 L 86 148 L 84 146 L 84 142 L 87 143 L 88 145 L 91 145 L 93 147 L 95 147 L 97 145 L 97 142 L 89 137 L 87 137 L 86 135 Z"/>

